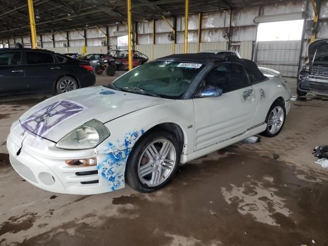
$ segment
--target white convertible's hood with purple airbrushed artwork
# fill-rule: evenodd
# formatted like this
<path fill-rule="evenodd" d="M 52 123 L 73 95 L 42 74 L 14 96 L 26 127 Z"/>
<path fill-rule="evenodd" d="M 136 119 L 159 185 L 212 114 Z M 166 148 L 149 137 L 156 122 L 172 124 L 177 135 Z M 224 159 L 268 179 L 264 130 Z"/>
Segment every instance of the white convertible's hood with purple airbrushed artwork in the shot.
<path fill-rule="evenodd" d="M 102 86 L 89 87 L 48 98 L 28 110 L 19 121 L 28 131 L 57 142 L 91 119 L 105 123 L 169 101 L 172 100 Z"/>

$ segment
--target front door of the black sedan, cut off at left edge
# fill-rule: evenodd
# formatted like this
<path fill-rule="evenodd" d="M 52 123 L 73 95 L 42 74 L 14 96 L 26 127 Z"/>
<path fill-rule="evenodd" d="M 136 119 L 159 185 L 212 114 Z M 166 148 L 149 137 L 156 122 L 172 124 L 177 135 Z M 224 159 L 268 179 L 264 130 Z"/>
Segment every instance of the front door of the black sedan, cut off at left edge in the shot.
<path fill-rule="evenodd" d="M 26 91 L 22 51 L 6 51 L 0 54 L 0 93 Z"/>

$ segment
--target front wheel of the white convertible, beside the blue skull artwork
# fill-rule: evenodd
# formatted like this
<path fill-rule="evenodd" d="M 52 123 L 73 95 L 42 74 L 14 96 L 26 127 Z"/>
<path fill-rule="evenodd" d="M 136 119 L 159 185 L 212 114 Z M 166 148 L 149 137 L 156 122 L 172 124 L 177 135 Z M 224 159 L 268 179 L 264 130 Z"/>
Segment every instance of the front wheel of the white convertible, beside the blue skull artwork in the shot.
<path fill-rule="evenodd" d="M 171 132 L 149 132 L 140 138 L 129 155 L 126 181 L 142 193 L 159 190 L 171 181 L 180 156 L 181 146 Z"/>

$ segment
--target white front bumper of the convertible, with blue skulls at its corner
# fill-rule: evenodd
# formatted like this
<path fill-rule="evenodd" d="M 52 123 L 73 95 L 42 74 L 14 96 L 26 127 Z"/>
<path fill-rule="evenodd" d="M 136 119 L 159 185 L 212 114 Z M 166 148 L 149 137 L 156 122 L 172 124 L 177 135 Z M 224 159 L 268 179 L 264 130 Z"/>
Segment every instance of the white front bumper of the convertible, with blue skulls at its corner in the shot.
<path fill-rule="evenodd" d="M 106 162 L 113 153 L 98 155 L 95 149 L 60 150 L 55 148 L 53 142 L 27 131 L 24 133 L 25 136 L 22 136 L 24 129 L 20 125 L 16 124 L 12 130 L 7 138 L 11 165 L 32 185 L 51 192 L 79 195 L 105 193 L 125 187 L 125 162 L 120 164 L 120 179 L 115 176 L 113 170 L 113 175 L 105 175 L 109 171 L 104 167 L 104 161 Z M 65 162 L 67 159 L 95 156 L 97 166 L 71 167 Z"/>

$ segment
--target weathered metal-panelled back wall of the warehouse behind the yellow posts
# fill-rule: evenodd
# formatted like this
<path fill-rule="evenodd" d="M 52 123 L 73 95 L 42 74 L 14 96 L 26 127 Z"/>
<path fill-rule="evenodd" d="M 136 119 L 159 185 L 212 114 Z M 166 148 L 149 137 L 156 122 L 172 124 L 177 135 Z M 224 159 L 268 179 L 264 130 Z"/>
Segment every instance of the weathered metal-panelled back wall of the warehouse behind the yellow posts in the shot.
<path fill-rule="evenodd" d="M 298 63 L 297 56 L 300 49 L 300 41 L 294 48 L 289 48 L 290 44 L 278 44 L 272 43 L 268 47 L 268 44 L 259 44 L 258 54 L 254 54 L 254 44 L 256 43 L 257 24 L 254 23 L 255 16 L 268 16 L 278 15 L 293 12 L 308 13 L 308 17 L 305 20 L 313 19 L 313 9 L 311 4 L 307 4 L 307 0 L 295 0 L 295 1 L 280 1 L 279 3 L 260 4 L 249 7 L 235 8 L 231 11 L 228 10 L 216 10 L 210 12 L 201 13 L 200 22 L 200 51 L 204 50 L 226 50 L 228 40 L 224 37 L 224 33 L 229 30 L 230 27 L 230 49 L 238 51 L 243 58 L 252 59 L 256 55 L 258 57 L 258 63 L 265 66 L 277 69 L 281 71 L 285 76 L 296 76 Z M 306 8 L 308 6 L 308 9 Z M 319 11 L 319 26 L 320 30 L 317 33 L 317 38 L 326 38 L 328 36 L 328 0 L 321 0 L 321 9 Z M 231 14 L 231 16 L 230 16 Z M 167 18 L 168 21 L 173 24 L 174 17 Z M 176 16 L 176 45 L 175 53 L 183 53 L 183 34 L 184 34 L 184 16 Z M 230 23 L 231 19 L 231 23 Z M 310 23 L 310 22 L 309 22 Z M 190 14 L 189 16 L 189 31 L 188 52 L 197 52 L 198 41 L 198 14 Z M 106 28 L 109 31 L 109 42 L 107 43 Z M 88 53 L 106 53 L 107 47 L 110 49 L 117 48 L 117 31 L 126 31 L 127 26 L 124 24 L 113 24 L 108 27 L 99 27 L 99 31 L 96 27 L 87 28 L 87 52 Z M 172 32 L 169 25 L 165 20 L 158 18 L 155 19 L 155 44 L 153 43 L 153 23 L 152 20 L 144 20 L 137 23 L 137 46 L 136 49 L 149 56 L 150 60 L 156 59 L 161 56 L 172 54 L 172 42 L 168 40 L 168 34 Z M 63 53 L 81 53 L 81 47 L 85 43 L 83 37 L 84 30 L 70 30 L 69 34 L 69 48 L 65 47 L 67 44 L 67 32 L 42 34 L 43 48 L 54 50 Z M 52 35 L 55 36 L 55 42 L 52 40 Z M 20 42 L 22 37 L 16 37 L 16 42 Z M 38 38 L 41 39 L 41 38 Z M 106 46 L 104 41 L 106 39 Z M 302 62 L 306 60 L 307 46 L 310 35 L 305 34 L 302 47 Z M 13 38 L 7 38 L 0 40 L 0 44 L 10 47 L 14 45 Z M 276 42 L 276 41 L 275 41 Z M 31 47 L 30 37 L 23 38 L 24 47 Z M 55 43 L 55 48 L 53 48 Z M 40 42 L 38 42 L 40 45 Z M 276 46 L 282 45 L 279 49 Z M 272 46 L 272 47 L 271 47 Z M 120 47 L 123 48 L 123 47 Z M 125 47 L 124 47 L 125 48 Z M 289 56 L 289 57 L 287 57 Z M 292 57 L 292 58 L 291 58 Z M 280 59 L 280 60 L 279 60 Z M 277 64 L 279 61 L 280 64 Z M 283 65 L 282 65 L 283 64 Z"/>

